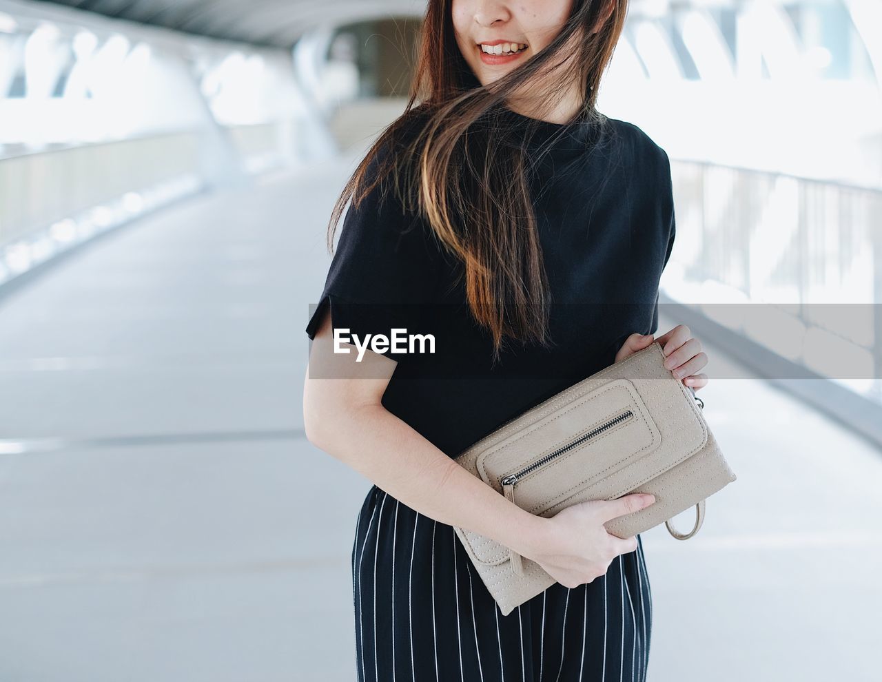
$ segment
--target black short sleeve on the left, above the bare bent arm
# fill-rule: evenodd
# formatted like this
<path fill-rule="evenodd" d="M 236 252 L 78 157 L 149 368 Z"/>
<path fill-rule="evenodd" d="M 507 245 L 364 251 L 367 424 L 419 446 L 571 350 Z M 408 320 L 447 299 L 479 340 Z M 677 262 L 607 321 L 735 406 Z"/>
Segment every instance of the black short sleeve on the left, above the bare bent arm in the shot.
<path fill-rule="evenodd" d="M 367 169 L 369 183 L 379 161 L 375 158 Z M 330 308 L 333 327 L 341 336 L 357 334 L 365 339 L 367 334 L 384 334 L 388 338 L 392 329 L 419 334 L 422 309 L 436 293 L 442 254 L 428 222 L 406 213 L 387 184 L 386 180 L 378 183 L 358 206 L 349 204 L 325 288 L 310 311 L 306 326 L 310 340 L 315 338 L 325 308 Z M 399 362 L 406 357 L 392 348 L 381 354 Z"/>

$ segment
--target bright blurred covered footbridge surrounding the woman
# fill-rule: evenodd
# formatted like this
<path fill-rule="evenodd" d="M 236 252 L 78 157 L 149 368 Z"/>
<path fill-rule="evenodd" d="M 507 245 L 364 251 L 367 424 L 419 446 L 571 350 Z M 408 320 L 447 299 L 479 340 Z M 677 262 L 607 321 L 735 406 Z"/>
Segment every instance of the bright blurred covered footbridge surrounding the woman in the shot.
<path fill-rule="evenodd" d="M 3 682 L 355 679 L 303 327 L 424 10 L 0 0 Z M 672 160 L 659 334 L 739 478 L 642 535 L 649 680 L 876 680 L 882 3 L 632 0 L 598 107 Z"/>

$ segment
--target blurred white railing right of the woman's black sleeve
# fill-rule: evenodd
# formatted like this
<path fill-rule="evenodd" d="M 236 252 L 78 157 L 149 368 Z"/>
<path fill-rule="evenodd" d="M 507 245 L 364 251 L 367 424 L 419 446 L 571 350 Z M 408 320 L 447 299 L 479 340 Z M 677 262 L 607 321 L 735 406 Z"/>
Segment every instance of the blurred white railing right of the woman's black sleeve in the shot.
<path fill-rule="evenodd" d="M 671 173 L 670 279 L 684 302 L 878 400 L 882 191 L 699 161 L 672 161 Z M 732 303 L 764 305 L 732 315 Z M 847 377 L 831 352 L 848 354 Z"/>

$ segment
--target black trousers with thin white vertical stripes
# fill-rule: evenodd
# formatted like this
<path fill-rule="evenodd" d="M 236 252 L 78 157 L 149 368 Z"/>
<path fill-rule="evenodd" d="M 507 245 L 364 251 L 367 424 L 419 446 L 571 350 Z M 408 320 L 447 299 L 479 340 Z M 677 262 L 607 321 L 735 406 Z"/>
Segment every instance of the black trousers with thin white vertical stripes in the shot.
<path fill-rule="evenodd" d="M 601 577 L 503 616 L 452 526 L 371 487 L 352 548 L 359 682 L 644 680 L 652 596 L 637 538 Z"/>

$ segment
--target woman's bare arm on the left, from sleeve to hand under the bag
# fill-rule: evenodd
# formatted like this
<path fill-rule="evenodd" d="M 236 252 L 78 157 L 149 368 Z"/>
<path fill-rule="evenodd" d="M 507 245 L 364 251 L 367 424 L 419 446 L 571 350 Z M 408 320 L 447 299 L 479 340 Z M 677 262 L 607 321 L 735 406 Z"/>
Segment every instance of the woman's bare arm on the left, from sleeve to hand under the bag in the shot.
<path fill-rule="evenodd" d="M 411 509 L 533 559 L 565 587 L 594 580 L 619 554 L 637 549 L 634 536 L 613 536 L 603 524 L 652 504 L 652 496 L 581 502 L 550 518 L 529 513 L 383 406 L 394 360 L 366 350 L 356 363 L 355 347 L 351 350 L 333 352 L 326 311 L 312 341 L 310 366 L 319 364 L 322 376 L 333 378 L 310 378 L 307 371 L 303 385 L 303 426 L 313 445 Z"/>

